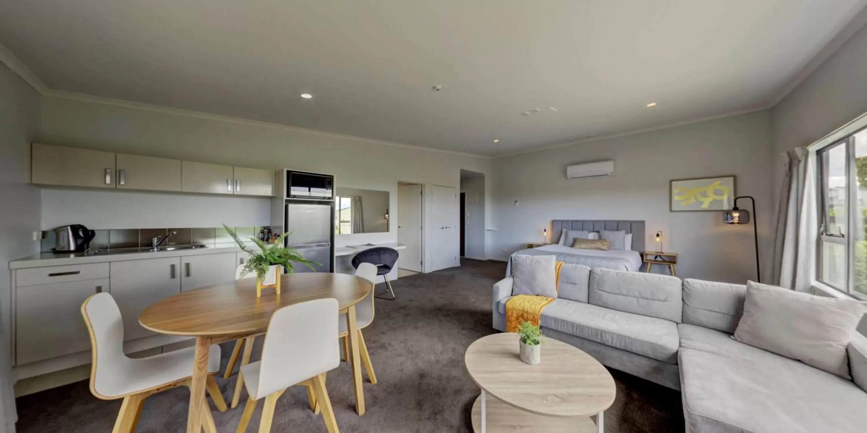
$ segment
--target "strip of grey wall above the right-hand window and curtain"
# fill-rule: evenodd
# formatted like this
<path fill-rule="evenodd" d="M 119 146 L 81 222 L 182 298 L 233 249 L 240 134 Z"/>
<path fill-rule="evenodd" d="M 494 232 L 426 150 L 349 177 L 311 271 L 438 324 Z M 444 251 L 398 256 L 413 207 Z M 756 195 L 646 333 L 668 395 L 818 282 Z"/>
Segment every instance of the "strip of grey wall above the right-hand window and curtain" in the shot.
<path fill-rule="evenodd" d="M 867 112 L 867 27 L 774 106 L 776 153 L 810 145 Z"/>

